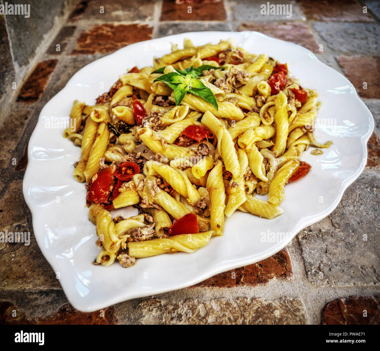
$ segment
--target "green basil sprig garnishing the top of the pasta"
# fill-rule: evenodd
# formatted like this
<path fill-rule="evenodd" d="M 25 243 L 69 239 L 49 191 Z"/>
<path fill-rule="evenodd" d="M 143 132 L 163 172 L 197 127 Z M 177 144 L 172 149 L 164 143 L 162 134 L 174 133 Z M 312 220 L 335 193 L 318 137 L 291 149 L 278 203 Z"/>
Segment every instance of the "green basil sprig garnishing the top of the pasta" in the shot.
<path fill-rule="evenodd" d="M 164 67 L 161 67 L 152 73 L 163 73 L 164 69 Z M 218 109 L 215 95 L 209 88 L 206 87 L 206 85 L 197 79 L 206 69 L 225 69 L 225 67 L 202 65 L 198 68 L 194 68 L 191 66 L 184 69 L 183 71 L 175 68 L 176 72 L 163 74 L 162 76 L 155 79 L 154 82 L 164 82 L 173 89 L 176 105 L 179 105 L 181 103 L 186 93 L 192 93 L 196 96 L 199 96 L 199 98 L 202 98 L 203 100 L 209 102 L 215 107 L 215 109 Z"/>

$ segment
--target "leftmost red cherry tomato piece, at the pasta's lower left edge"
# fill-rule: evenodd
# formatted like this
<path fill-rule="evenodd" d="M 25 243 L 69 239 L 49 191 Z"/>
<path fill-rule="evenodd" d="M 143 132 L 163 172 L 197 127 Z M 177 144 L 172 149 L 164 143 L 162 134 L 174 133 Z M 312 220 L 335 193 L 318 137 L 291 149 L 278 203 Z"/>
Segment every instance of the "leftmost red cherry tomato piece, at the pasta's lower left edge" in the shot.
<path fill-rule="evenodd" d="M 90 183 L 90 189 L 87 191 L 86 199 L 92 203 L 107 202 L 110 189 L 114 185 L 114 173 L 115 167 L 108 167 L 102 169 L 97 173 L 97 177 Z"/>

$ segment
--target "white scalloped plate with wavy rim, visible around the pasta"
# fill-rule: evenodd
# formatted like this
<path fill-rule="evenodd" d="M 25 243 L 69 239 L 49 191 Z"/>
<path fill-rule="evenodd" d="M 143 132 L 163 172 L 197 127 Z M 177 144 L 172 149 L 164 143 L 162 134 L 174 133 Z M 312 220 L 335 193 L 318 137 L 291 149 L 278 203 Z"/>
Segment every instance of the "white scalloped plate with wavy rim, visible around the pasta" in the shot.
<path fill-rule="evenodd" d="M 94 104 L 119 74 L 133 66 L 152 65 L 154 56 L 182 46 L 184 38 L 195 45 L 232 38 L 251 53 L 265 53 L 315 88 L 322 107 L 316 136 L 333 144 L 322 155 L 311 148 L 302 159 L 310 173 L 286 186 L 284 213 L 272 220 L 237 211 L 225 222 L 225 235 L 214 237 L 196 253 L 176 253 L 136 260 L 132 268 L 118 263 L 93 266 L 97 256 L 95 226 L 88 219 L 86 190 L 72 176 L 80 148 L 63 139 L 63 127 L 49 128 L 55 118 L 68 121 L 74 99 Z M 50 122 L 49 122 L 50 121 Z M 360 175 L 367 161 L 366 143 L 374 122 L 352 84 L 314 54 L 290 42 L 257 32 L 195 32 L 153 39 L 124 47 L 80 69 L 42 109 L 28 147 L 24 196 L 32 212 L 36 240 L 55 272 L 70 303 L 81 311 L 94 311 L 135 297 L 184 288 L 214 274 L 252 264 L 285 247 L 303 228 L 323 219 L 338 205 L 343 192 Z M 269 233 L 285 233 L 281 240 L 262 242 Z"/>

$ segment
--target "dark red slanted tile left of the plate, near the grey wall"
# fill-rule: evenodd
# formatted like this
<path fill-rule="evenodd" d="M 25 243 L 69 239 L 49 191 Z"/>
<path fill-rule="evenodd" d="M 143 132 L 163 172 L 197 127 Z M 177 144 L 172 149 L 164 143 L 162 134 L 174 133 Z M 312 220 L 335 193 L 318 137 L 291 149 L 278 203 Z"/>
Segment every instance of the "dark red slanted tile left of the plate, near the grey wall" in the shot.
<path fill-rule="evenodd" d="M 58 60 L 46 60 L 38 63 L 26 82 L 22 85 L 17 101 L 35 102 L 43 94 L 47 81 L 54 71 Z"/>

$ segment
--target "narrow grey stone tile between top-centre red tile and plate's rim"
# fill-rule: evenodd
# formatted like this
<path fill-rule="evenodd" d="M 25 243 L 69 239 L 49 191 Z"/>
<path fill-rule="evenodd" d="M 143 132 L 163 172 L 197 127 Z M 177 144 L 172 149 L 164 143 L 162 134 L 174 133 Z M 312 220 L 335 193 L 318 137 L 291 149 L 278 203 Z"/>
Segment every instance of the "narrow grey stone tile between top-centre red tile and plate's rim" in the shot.
<path fill-rule="evenodd" d="M 178 22 L 178 23 L 160 23 L 158 27 L 158 36 L 161 38 L 167 35 L 186 33 L 191 31 L 230 31 L 228 23 L 202 23 L 202 22 Z M 216 43 L 215 43 L 216 44 Z"/>

